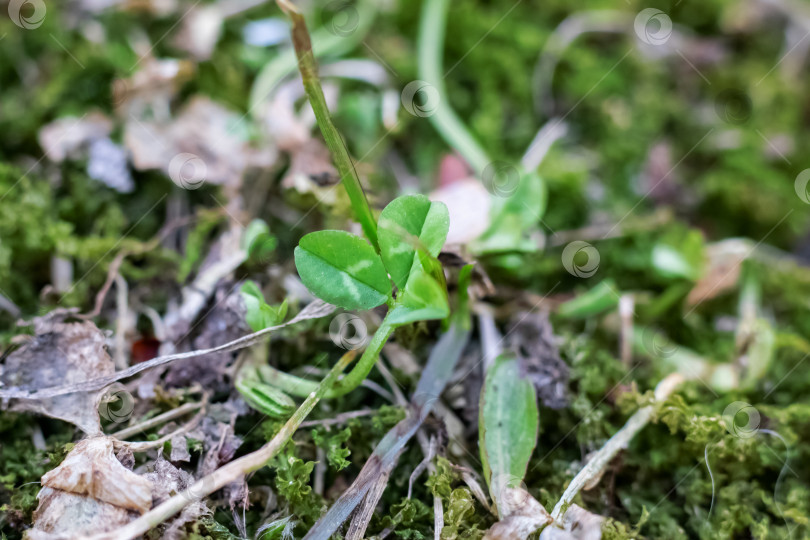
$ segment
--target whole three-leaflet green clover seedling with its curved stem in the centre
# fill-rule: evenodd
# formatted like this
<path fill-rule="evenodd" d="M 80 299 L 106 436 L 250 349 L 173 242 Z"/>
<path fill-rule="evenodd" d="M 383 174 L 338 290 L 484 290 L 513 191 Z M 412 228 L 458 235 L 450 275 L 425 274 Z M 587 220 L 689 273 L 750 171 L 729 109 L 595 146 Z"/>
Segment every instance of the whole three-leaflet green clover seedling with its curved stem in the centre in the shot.
<path fill-rule="evenodd" d="M 379 253 L 345 231 L 307 234 L 295 248 L 298 274 L 321 300 L 350 310 L 389 306 L 363 356 L 329 396 L 343 395 L 363 382 L 396 328 L 450 314 L 436 258 L 450 227 L 447 207 L 424 195 L 405 195 L 383 209 L 377 226 Z M 307 395 L 314 385 L 269 366 L 261 372 L 265 382 L 294 395 Z"/>

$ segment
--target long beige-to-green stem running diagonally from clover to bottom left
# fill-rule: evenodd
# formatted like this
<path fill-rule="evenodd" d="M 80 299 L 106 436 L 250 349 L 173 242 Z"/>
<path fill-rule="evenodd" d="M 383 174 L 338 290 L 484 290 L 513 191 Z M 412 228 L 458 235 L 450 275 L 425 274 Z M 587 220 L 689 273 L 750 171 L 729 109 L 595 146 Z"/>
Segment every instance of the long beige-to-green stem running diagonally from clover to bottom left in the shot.
<path fill-rule="evenodd" d="M 345 354 L 340 361 L 335 364 L 329 374 L 324 377 L 320 384 L 316 385 L 316 390 L 312 392 L 306 400 L 298 407 L 298 410 L 287 420 L 273 439 L 256 450 L 241 458 L 220 467 L 213 473 L 197 480 L 181 493 L 178 493 L 169 500 L 159 504 L 138 519 L 129 522 L 118 530 L 92 536 L 92 540 L 129 540 L 148 532 L 177 514 L 189 504 L 200 501 L 211 493 L 221 489 L 247 473 L 264 467 L 278 452 L 287 444 L 293 436 L 295 430 L 304 419 L 312 412 L 315 405 L 324 397 L 324 394 L 332 387 L 338 375 L 349 365 L 354 355 Z"/>

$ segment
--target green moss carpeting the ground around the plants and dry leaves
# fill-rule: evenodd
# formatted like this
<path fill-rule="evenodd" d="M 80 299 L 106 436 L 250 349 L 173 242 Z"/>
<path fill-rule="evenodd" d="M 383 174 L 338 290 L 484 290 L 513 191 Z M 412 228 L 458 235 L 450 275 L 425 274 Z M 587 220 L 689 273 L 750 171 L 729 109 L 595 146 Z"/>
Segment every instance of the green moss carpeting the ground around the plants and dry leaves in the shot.
<path fill-rule="evenodd" d="M 725 55 L 717 62 L 700 64 L 696 73 L 678 54 L 644 57 L 636 51 L 631 35 L 588 34 L 577 40 L 563 55 L 551 84 L 555 110 L 566 115 L 571 136 L 552 148 L 540 169 L 549 190 L 542 224 L 550 235 L 594 221 L 615 223 L 632 212 L 628 227 L 620 237 L 594 242 L 601 261 L 597 275 L 587 282 L 562 268 L 561 247 L 481 262 L 496 285 L 520 286 L 539 295 L 552 288 L 556 293 L 582 292 L 611 278 L 623 291 L 646 294 L 647 300 L 638 305 L 638 323 L 663 329 L 710 362 L 729 361 L 734 355 L 734 333 L 718 321 L 736 314 L 739 287 L 690 310 L 683 307 L 690 281 L 656 273 L 651 252 L 662 242 L 687 252 L 701 251 L 710 242 L 747 237 L 799 258 L 806 254 L 810 207 L 797 197 L 793 182 L 806 167 L 810 152 L 806 70 L 793 78 L 780 69 L 772 70 L 782 54 L 784 25 L 776 19 L 755 25 L 745 20 L 748 8 L 737 2 L 620 4 L 630 14 L 659 7 L 704 46 L 720 43 Z M 548 120 L 535 110 L 532 74 L 552 30 L 572 13 L 615 7 L 611 2 L 557 0 L 517 4 L 495 0 L 452 7 L 444 58 L 445 66 L 453 66 L 446 77 L 448 96 L 493 157 L 518 159 L 537 128 Z M 157 57 L 178 54 L 169 40 L 160 39 L 171 29 L 171 17 L 155 20 L 136 13 L 104 12 L 95 17 L 107 31 L 102 46 L 87 40 L 79 28 L 60 22 L 68 9 L 48 4 L 48 16 L 36 31 L 21 31 L 5 18 L 0 21 L 0 35 L 5 35 L 0 41 L 0 292 L 13 299 L 24 317 L 56 306 L 91 309 L 115 251 L 136 248 L 158 232 L 165 202 L 153 212 L 146 210 L 173 187 L 159 174 L 135 173 L 137 190 L 116 194 L 89 179 L 80 163 L 31 166 L 42 154 L 37 133 L 43 125 L 96 108 L 112 112 L 113 80 L 128 76 L 137 62 L 127 43 L 127 29 L 142 28 L 155 43 Z M 397 88 L 417 78 L 418 12 L 418 4 L 387 4 L 366 37 L 367 47 L 354 53 L 373 58 L 368 52 L 372 50 L 384 58 Z M 241 27 L 248 20 L 278 15 L 268 3 L 229 20 L 213 56 L 197 66 L 179 100 L 204 94 L 247 114 L 252 81 L 275 52 L 244 45 Z M 35 71 L 23 77 L 21 70 L 32 66 Z M 33 80 L 23 82 L 23 78 Z M 749 100 L 750 109 L 743 111 L 741 122 L 717 115 L 718 96 L 726 90 Z M 369 108 L 362 105 L 371 100 L 371 94 L 367 88 L 347 84 L 335 113 L 352 152 L 376 163 L 396 150 L 406 157 L 423 189 L 429 189 L 438 160 L 448 151 L 446 145 L 429 123 L 410 116 L 378 142 L 384 128 L 369 121 Z M 736 141 L 732 148 L 714 144 L 723 134 Z M 769 149 L 768 141 L 782 136 L 792 144 L 780 157 Z M 645 193 L 638 185 L 640 171 L 655 143 L 665 143 L 671 151 L 673 173 L 665 182 L 675 195 L 669 200 L 647 197 L 637 205 Z M 382 172 L 372 179 L 375 197 L 386 199 L 395 193 L 395 184 Z M 273 186 L 268 201 L 287 204 L 288 194 Z M 191 192 L 191 205 L 216 208 L 212 194 L 216 190 L 210 187 Z M 634 221 L 661 206 L 672 209 L 663 224 L 650 228 Z M 331 219 L 315 212 L 290 229 L 277 213 L 261 217 L 278 231 L 276 257 L 281 262 L 290 260 L 301 234 Z M 203 231 L 197 242 L 208 239 Z M 53 254 L 70 258 L 77 280 L 82 278 L 64 295 L 41 294 L 50 283 Z M 188 272 L 183 265 L 177 252 L 158 248 L 131 257 L 121 272 L 130 283 L 142 285 L 148 291 L 145 301 L 162 311 L 177 291 L 178 274 Z M 774 357 L 767 372 L 745 391 L 719 393 L 700 381 L 690 382 L 667 402 L 656 424 L 633 440 L 597 487 L 580 497 L 592 512 L 615 520 L 606 526 L 606 538 L 810 537 L 806 466 L 810 460 L 810 362 L 805 361 L 810 354 L 806 337 L 810 274 L 797 264 L 775 267 L 751 260 L 744 266 L 759 284 L 762 309 L 776 329 Z M 0 313 L 0 340 L 6 346 L 18 331 L 14 321 L 8 313 Z M 570 402 L 560 410 L 541 410 L 541 434 L 525 479 L 546 508 L 554 505 L 584 457 L 644 402 L 639 394 L 665 373 L 663 366 L 648 359 L 638 359 L 638 366 L 628 373 L 618 358 L 609 316 L 582 321 L 552 316 L 552 322 L 563 340 L 561 355 L 571 369 Z M 415 350 L 425 350 L 431 332 L 412 337 Z M 278 350 L 285 369 L 306 363 L 295 350 L 292 345 Z M 396 375 L 405 388 L 415 381 L 413 375 Z M 620 399 L 618 390 L 625 392 Z M 279 499 L 301 521 L 299 531 L 314 523 L 327 499 L 336 495 L 327 491 L 325 499 L 311 490 L 316 448 L 321 447 L 328 459 L 325 484 L 345 486 L 370 455 L 374 442 L 403 414 L 363 392 L 329 403 L 314 418 L 363 407 L 379 409 L 375 414 L 331 431 L 302 431 L 295 444 L 251 480 L 275 487 Z M 750 403 L 761 414 L 761 429 L 755 436 L 735 436 L 722 423 L 724 409 L 735 401 Z M 31 442 L 34 424 L 45 436 L 46 450 L 35 449 Z M 246 441 L 240 452 L 258 447 L 278 427 L 272 422 L 254 424 L 245 420 L 237 425 L 237 433 Z M 72 429 L 57 421 L 0 415 L 4 537 L 19 538 L 23 524 L 30 523 L 37 482 L 64 456 L 73 435 Z M 477 447 L 474 435 L 468 442 L 471 448 Z M 468 456 L 473 463 L 477 463 L 475 454 Z M 713 503 L 706 456 L 714 480 Z M 789 456 L 787 465 L 785 456 Z M 444 501 L 446 537 L 481 537 L 494 518 L 451 468 L 440 464 L 439 472 L 427 484 L 424 478 L 418 481 L 413 497 L 406 498 L 409 476 L 422 459 L 416 445 L 402 455 L 369 532 L 394 527 L 399 538 L 432 537 L 432 506 L 424 502 L 432 492 Z M 260 513 L 251 508 L 246 517 L 248 530 L 253 530 Z M 230 538 L 237 531 L 230 512 L 221 510 L 195 524 L 189 534 L 190 538 Z"/>

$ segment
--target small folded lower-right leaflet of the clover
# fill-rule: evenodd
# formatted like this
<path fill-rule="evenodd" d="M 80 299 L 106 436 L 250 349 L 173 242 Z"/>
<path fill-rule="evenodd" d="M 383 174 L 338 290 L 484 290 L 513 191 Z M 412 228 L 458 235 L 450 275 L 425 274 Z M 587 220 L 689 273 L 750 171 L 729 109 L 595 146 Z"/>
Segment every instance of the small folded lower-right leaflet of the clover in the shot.
<path fill-rule="evenodd" d="M 444 319 L 450 315 L 447 291 L 421 267 L 415 270 L 405 290 L 386 320 L 392 325 L 408 324 L 430 319 Z"/>

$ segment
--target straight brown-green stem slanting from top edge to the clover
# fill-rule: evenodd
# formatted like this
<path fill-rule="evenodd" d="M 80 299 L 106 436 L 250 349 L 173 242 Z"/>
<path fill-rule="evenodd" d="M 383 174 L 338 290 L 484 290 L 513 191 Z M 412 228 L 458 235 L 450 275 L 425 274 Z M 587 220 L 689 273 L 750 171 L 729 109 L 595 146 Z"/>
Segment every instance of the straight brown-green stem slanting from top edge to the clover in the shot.
<path fill-rule="evenodd" d="M 332 123 L 332 117 L 329 114 L 329 108 L 326 105 L 321 82 L 318 78 L 318 67 L 312 52 L 312 42 L 309 38 L 309 30 L 307 30 L 304 16 L 288 0 L 277 0 L 277 3 L 292 20 L 292 41 L 295 54 L 298 57 L 298 70 L 301 72 L 304 90 L 315 113 L 318 126 L 321 128 L 326 146 L 329 147 L 332 159 L 337 165 L 343 187 L 346 189 L 352 203 L 355 217 L 363 227 L 363 232 L 368 237 L 371 245 L 379 253 L 377 222 L 371 212 L 371 207 L 368 205 L 368 200 L 366 200 L 366 194 L 360 184 L 360 179 L 357 177 L 357 171 L 354 169 L 354 163 L 352 163 L 352 158 L 349 156 L 346 143 L 340 136 L 335 124 Z"/>

